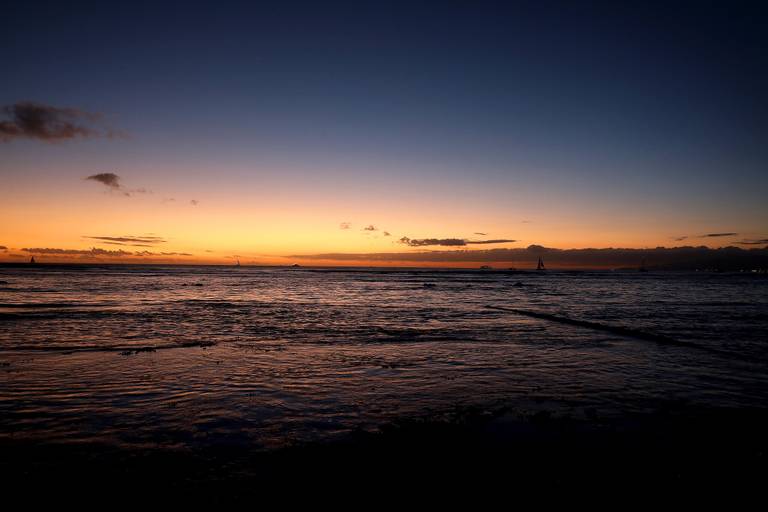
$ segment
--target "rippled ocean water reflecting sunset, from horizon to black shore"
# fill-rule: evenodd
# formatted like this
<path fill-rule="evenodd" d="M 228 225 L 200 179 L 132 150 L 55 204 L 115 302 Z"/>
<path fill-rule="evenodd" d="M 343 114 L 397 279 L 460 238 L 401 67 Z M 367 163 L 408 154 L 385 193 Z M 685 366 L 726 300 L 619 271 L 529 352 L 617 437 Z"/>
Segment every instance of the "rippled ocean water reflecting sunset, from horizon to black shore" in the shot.
<path fill-rule="evenodd" d="M 270 449 L 461 407 L 764 408 L 766 332 L 752 274 L 5 267 L 0 438 Z"/>

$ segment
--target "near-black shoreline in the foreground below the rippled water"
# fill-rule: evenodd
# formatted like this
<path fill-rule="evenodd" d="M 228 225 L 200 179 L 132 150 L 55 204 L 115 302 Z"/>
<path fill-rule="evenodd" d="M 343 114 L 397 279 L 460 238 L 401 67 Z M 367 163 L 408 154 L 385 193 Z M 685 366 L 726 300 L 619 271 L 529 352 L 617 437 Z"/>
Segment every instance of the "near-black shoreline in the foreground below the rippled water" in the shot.
<path fill-rule="evenodd" d="M 427 478 L 465 491 L 504 485 L 516 494 L 595 485 L 756 493 L 768 476 L 766 429 L 766 409 L 661 411 L 618 421 L 457 409 L 266 451 L 225 440 L 191 449 L 0 439 L 0 477 L 15 492 L 45 488 L 61 496 L 85 484 L 92 498 L 125 489 L 131 500 L 195 503 L 252 502 L 284 486 L 384 488 Z"/>

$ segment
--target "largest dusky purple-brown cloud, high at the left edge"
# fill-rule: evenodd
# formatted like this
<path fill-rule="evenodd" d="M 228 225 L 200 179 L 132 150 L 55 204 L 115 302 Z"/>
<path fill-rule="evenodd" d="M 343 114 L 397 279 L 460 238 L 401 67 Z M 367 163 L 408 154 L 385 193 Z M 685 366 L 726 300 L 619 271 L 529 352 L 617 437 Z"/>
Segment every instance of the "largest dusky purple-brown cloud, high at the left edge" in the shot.
<path fill-rule="evenodd" d="M 2 108 L 8 118 L 0 120 L 0 142 L 35 139 L 45 142 L 93 137 L 114 137 L 119 133 L 100 126 L 102 115 L 76 108 L 60 108 L 22 101 Z"/>

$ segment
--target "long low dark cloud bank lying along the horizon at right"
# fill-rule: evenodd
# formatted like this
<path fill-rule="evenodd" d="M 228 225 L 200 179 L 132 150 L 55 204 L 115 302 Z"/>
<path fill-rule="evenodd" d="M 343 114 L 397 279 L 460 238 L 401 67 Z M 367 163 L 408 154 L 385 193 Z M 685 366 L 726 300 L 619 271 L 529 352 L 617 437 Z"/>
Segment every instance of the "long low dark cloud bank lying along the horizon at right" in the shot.
<path fill-rule="evenodd" d="M 381 264 L 506 264 L 517 268 L 536 268 L 539 257 L 549 268 L 628 268 L 637 269 L 645 259 L 649 268 L 693 270 L 719 268 L 740 270 L 765 268 L 768 248 L 739 247 L 657 247 L 655 249 L 552 249 L 540 245 L 514 249 L 437 250 L 399 253 L 327 253 L 292 255 L 290 258 Z"/>

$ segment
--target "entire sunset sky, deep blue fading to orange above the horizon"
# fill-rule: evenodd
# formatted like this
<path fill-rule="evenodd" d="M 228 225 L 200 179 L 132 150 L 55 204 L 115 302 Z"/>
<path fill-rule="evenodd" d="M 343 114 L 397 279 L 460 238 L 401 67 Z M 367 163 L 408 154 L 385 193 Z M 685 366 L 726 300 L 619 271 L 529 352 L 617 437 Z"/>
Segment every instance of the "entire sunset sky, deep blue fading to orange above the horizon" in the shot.
<path fill-rule="evenodd" d="M 0 261 L 763 247 L 761 4 L 9 2 Z"/>

